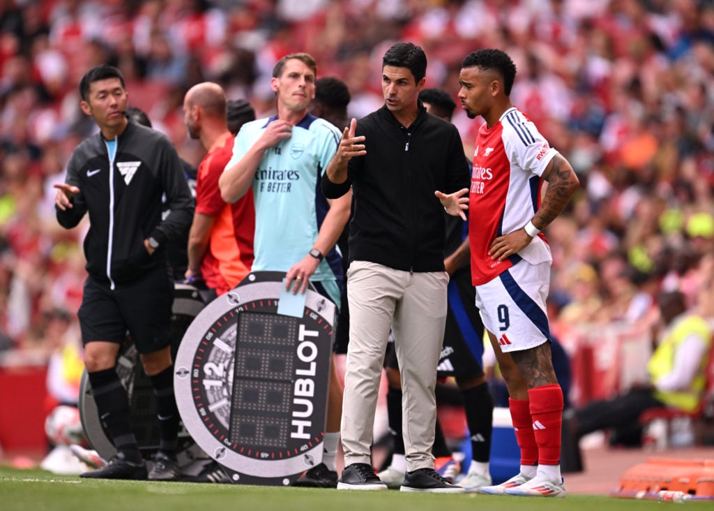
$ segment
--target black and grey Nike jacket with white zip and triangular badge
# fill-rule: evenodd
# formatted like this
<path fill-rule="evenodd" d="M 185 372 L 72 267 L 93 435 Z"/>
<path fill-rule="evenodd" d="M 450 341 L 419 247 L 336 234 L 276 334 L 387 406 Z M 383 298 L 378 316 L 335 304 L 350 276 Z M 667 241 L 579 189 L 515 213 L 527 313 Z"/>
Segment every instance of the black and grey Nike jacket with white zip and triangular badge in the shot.
<path fill-rule="evenodd" d="M 89 212 L 86 269 L 112 288 L 165 265 L 166 241 L 179 237 L 193 219 L 193 197 L 174 144 L 134 121 L 116 141 L 113 162 L 101 133 L 74 149 L 65 182 L 78 187 L 79 194 L 71 199 L 74 207 L 55 207 L 57 221 L 66 229 Z M 170 212 L 162 220 L 163 194 Z M 151 256 L 144 247 L 149 237 L 159 242 Z"/>

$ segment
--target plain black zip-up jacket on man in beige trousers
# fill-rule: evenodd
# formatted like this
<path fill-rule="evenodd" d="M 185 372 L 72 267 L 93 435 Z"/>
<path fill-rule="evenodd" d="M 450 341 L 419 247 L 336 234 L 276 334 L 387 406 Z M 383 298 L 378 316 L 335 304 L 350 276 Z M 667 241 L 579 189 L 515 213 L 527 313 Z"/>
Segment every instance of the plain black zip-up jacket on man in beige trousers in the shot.
<path fill-rule="evenodd" d="M 323 174 L 325 197 L 352 187 L 350 261 L 369 261 L 410 272 L 443 272 L 444 210 L 434 192 L 468 188 L 471 176 L 456 126 L 428 114 L 421 101 L 405 128 L 386 106 L 357 122 L 367 154 L 348 163 L 347 180 Z"/>

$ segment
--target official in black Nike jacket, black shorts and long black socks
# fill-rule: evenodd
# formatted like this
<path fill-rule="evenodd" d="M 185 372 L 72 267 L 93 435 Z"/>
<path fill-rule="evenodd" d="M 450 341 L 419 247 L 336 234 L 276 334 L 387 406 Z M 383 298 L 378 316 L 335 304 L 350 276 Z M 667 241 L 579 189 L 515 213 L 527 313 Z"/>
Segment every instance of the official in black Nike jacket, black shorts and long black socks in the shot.
<path fill-rule="evenodd" d="M 176 480 L 179 417 L 169 337 L 174 289 L 164 249 L 191 224 L 193 199 L 174 145 L 127 118 L 119 69 L 90 69 L 79 93 L 82 111 L 100 132 L 74 149 L 66 182 L 55 185 L 55 203 L 66 229 L 89 212 L 84 240 L 89 275 L 78 316 L 92 394 L 117 450 L 106 466 L 80 477 Z M 163 194 L 171 210 L 164 220 Z M 127 331 L 156 395 L 160 445 L 148 474 L 115 369 Z"/>

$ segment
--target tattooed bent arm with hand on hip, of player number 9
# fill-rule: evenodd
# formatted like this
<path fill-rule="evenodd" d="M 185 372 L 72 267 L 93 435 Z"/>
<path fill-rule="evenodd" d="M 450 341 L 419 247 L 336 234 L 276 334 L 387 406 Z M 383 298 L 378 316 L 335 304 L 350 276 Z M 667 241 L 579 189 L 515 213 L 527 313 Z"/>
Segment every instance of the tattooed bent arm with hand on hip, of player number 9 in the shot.
<path fill-rule="evenodd" d="M 543 179 L 548 182 L 548 188 L 545 189 L 540 207 L 531 220 L 533 226 L 539 231 L 548 227 L 548 224 L 553 222 L 565 209 L 570 197 L 573 197 L 580 184 L 573 167 L 570 167 L 568 160 L 560 154 L 556 154 L 545 167 Z M 533 237 L 526 232 L 524 227 L 494 239 L 488 253 L 491 254 L 491 259 L 503 261 L 527 247 L 532 239 Z"/>

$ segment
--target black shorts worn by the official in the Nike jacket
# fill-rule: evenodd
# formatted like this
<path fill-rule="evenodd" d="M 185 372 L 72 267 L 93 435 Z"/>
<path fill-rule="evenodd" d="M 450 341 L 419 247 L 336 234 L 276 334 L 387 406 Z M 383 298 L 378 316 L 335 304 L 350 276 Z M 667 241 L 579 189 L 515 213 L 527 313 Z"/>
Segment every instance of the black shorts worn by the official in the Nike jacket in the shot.
<path fill-rule="evenodd" d="M 84 295 L 77 316 L 82 343 L 123 343 L 127 332 L 141 354 L 153 353 L 171 344 L 171 306 L 174 284 L 166 268 L 109 287 L 94 277 L 84 281 Z"/>

